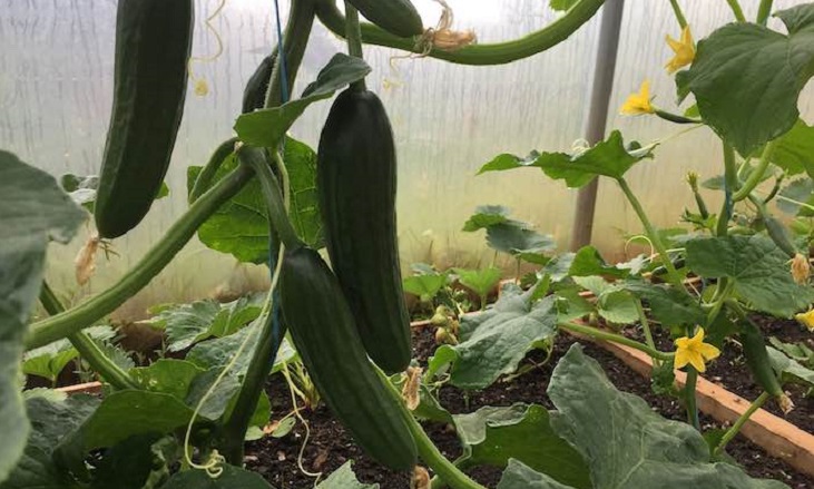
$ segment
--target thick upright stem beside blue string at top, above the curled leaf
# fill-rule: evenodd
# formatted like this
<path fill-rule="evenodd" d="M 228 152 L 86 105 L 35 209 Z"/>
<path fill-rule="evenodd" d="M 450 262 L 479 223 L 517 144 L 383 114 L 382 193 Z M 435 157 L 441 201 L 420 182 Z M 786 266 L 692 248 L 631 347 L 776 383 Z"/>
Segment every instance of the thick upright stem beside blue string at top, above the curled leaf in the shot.
<path fill-rule="evenodd" d="M 305 56 L 305 48 L 308 45 L 311 29 L 314 26 L 314 17 L 316 14 L 317 0 L 293 0 L 288 20 L 283 32 L 283 51 L 285 53 L 285 74 L 286 87 L 288 89 L 288 98 L 291 90 L 294 88 L 300 65 Z M 265 108 L 277 107 L 283 102 L 283 84 L 281 77 L 281 56 L 277 56 L 272 70 L 272 78 L 268 81 L 266 90 Z"/>

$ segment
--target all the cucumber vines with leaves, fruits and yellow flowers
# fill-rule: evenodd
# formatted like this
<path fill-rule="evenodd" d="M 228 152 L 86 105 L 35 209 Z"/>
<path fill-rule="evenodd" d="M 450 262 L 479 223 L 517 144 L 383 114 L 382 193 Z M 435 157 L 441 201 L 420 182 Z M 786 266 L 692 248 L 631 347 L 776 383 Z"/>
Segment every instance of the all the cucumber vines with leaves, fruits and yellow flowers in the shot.
<path fill-rule="evenodd" d="M 784 487 L 753 480 L 739 468 L 717 462 L 693 427 L 667 422 L 640 400 L 616 391 L 579 346 L 568 352 L 552 374 L 548 393 L 556 415 L 536 404 L 453 415 L 426 387 L 450 382 L 463 389 L 486 388 L 514 372 L 530 349 L 550 349 L 556 334 L 573 331 L 645 351 L 659 365 L 667 365 L 668 373 L 671 365 L 688 365 L 684 397 L 689 421 L 697 428 L 695 380 L 716 348 L 704 342 L 706 331 L 708 342 L 717 348 L 726 336 L 739 335 L 744 341 L 756 380 L 767 391 L 755 405 L 769 397 L 785 402 L 779 382 L 787 372 L 772 370 L 774 363 L 767 358 L 774 358 L 774 350 L 765 349 L 748 314 L 791 316 L 814 301 L 807 267 L 804 280 L 796 282 L 788 270 L 792 252 L 797 268 L 803 267 L 797 260 L 801 250 L 784 241 L 781 224 L 759 205 L 772 198 L 758 189 L 772 165 L 790 173 L 801 168 L 790 163 L 788 155 L 796 154 L 793 149 L 805 146 L 811 136 L 796 111 L 814 60 L 811 3 L 775 13 L 787 35 L 765 27 L 772 2 L 762 1 L 755 22 L 738 19 L 739 23 L 714 31 L 698 43 L 697 52 L 688 30 L 681 41 L 673 41 L 676 59 L 670 69 L 692 65 L 676 76 L 678 92 L 681 98 L 692 94 L 697 109 L 678 115 L 655 108 L 647 85 L 645 94 L 625 106 L 676 124 L 708 126 L 720 136 L 725 204 L 708 227 L 709 236 L 690 236 L 680 250 L 667 250 L 649 222 L 625 174 L 650 158 L 655 144 L 625 145 L 615 131 L 575 155 L 501 155 L 482 172 L 539 167 L 575 187 L 597 176 L 616 180 L 640 217 L 656 252 L 653 262 L 664 273 L 640 261 L 609 265 L 592 248 L 575 255 L 543 255 L 551 243 L 523 233 L 530 229 L 520 226 L 512 235 L 519 234 L 520 245 L 508 245 L 506 239 L 496 243 L 518 263 L 542 265 L 536 286 L 521 291 L 508 285 L 493 307 L 463 317 L 460 331 L 455 325 L 454 344 L 441 345 L 430 361 L 424 385 L 415 383 L 416 370 L 410 370 L 410 382 L 400 373 L 410 362 L 410 332 L 395 241 L 395 148 L 385 108 L 365 89 L 371 68 L 362 59 L 362 43 L 450 62 L 499 65 L 563 41 L 602 3 L 552 1 L 562 16 L 521 39 L 450 46 L 449 12 L 447 23 L 440 23 L 443 29 L 423 29 L 409 0 L 351 0 L 344 16 L 334 0 L 292 0 L 282 46 L 269 48 L 247 82 L 243 114 L 235 120 L 236 136 L 225 137 L 205 166 L 188 170 L 189 208 L 110 288 L 67 310 L 43 282 L 46 251 L 51 241 L 69 242 L 88 212 L 51 176 L 0 150 L 0 188 L 4 190 L 0 192 L 0 274 L 7 278 L 0 281 L 0 429 L 7 436 L 0 448 L 0 488 L 114 487 L 124 479 L 127 487 L 268 488 L 258 475 L 243 468 L 243 447 L 249 428 L 256 432 L 269 422 L 264 387 L 269 372 L 278 368 L 275 359 L 293 358 L 286 356 L 293 354 L 288 338 L 320 397 L 355 441 L 391 468 L 410 470 L 421 460 L 434 473 L 433 487 L 482 488 L 462 470 L 478 463 L 504 469 L 501 488 L 529 487 L 531 480 L 540 487 L 577 489 L 684 487 L 687 482 Z M 728 3 L 743 17 L 736 0 Z M 680 27 L 688 29 L 678 3 L 671 4 Z M 360 22 L 356 8 L 373 23 Z M 300 97 L 290 99 L 315 19 L 346 37 L 351 56 L 334 56 Z M 119 0 L 115 101 L 94 206 L 104 238 L 138 225 L 160 192 L 182 116 L 192 26 L 189 0 Z M 741 43 L 743 36 L 753 37 L 754 42 Z M 752 56 L 755 46 L 765 56 Z M 727 62 L 733 51 L 744 55 L 738 62 Z M 796 53 L 791 65 L 785 56 L 790 51 Z M 757 74 L 756 78 L 742 77 L 741 69 Z M 774 82 L 779 76 L 786 78 Z M 310 105 L 337 92 L 317 153 L 286 136 Z M 763 102 L 769 99 L 771 104 Z M 756 164 L 747 173 L 751 160 Z M 374 175 L 372 188 L 360 188 L 369 175 Z M 296 185 L 316 185 L 316 195 L 303 197 L 297 192 L 303 188 Z M 699 190 L 695 194 L 700 205 Z M 783 189 L 773 194 L 790 195 Z M 735 206 L 747 203 L 761 214 L 768 234 L 756 228 L 735 233 Z M 320 204 L 322 213 L 315 212 Z M 246 208 L 254 211 L 255 221 L 235 217 Z M 710 218 L 705 212 L 704 219 Z M 233 228 L 224 223 L 248 232 L 234 239 Z M 489 226 L 481 227 L 489 233 Z M 147 285 L 196 233 L 213 250 L 268 265 L 272 286 L 263 306 L 252 319 L 244 317 L 251 321 L 244 327 L 233 329 L 216 315 L 212 323 L 185 332 L 187 346 L 197 343 L 183 360 L 160 359 L 144 368 L 117 364 L 86 330 Z M 323 243 L 333 268 L 318 254 Z M 683 260 L 674 260 L 676 254 Z M 653 272 L 653 281 L 646 280 L 646 271 Z M 706 280 L 707 290 L 699 291 L 700 296 L 685 287 L 689 271 Z M 482 301 L 493 274 L 461 272 L 461 277 Z M 773 288 L 762 281 L 771 281 Z M 580 299 L 582 290 L 592 292 L 597 303 Z M 38 297 L 50 315 L 32 322 L 29 315 Z M 677 351 L 656 349 L 645 304 L 651 319 L 681 329 L 686 338 L 679 339 Z M 576 321 L 590 313 L 614 323 L 639 322 L 647 341 Z M 449 322 L 449 317 L 440 320 Z M 202 341 L 209 336 L 215 338 Z M 63 340 L 106 381 L 102 395 L 66 399 L 50 390 L 20 391 L 19 360 L 24 352 Z M 385 372 L 393 375 L 388 378 Z M 410 408 L 398 383 L 412 385 Z M 448 460 L 419 419 L 454 424 L 464 458 L 455 463 Z M 743 422 L 738 420 L 722 438 L 718 451 Z M 615 426 L 628 428 L 608 429 Z M 675 450 L 659 450 L 665 441 Z M 500 447 L 500 452 L 484 454 L 487 446 Z M 342 480 L 353 479 L 347 471 L 341 469 L 317 487 L 347 487 L 341 486 Z M 624 480 L 617 479 L 620 473 Z"/>

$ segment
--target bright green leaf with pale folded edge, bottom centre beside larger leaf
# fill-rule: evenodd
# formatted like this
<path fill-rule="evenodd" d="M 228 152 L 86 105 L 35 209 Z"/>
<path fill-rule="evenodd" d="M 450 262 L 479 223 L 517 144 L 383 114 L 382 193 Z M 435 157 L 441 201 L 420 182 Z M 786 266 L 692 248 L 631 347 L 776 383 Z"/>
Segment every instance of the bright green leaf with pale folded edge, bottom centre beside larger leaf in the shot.
<path fill-rule="evenodd" d="M 546 408 L 487 407 L 470 414 L 455 414 L 453 419 L 464 447 L 460 463 L 504 468 L 509 459 L 516 459 L 559 482 L 591 488 L 582 457 L 553 432 Z"/>

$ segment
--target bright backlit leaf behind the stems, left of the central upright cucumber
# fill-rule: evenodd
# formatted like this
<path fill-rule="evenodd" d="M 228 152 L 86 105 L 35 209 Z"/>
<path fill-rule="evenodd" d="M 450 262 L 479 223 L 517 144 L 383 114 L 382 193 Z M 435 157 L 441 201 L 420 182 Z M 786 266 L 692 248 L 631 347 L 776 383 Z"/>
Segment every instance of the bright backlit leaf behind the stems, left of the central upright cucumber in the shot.
<path fill-rule="evenodd" d="M 306 144 L 285 138 L 283 160 L 291 177 L 292 196 L 288 216 L 300 237 L 310 246 L 320 248 L 323 236 L 315 195 L 315 159 L 316 154 Z M 223 178 L 237 165 L 237 158 L 231 154 L 215 179 Z M 192 189 L 199 173 L 200 167 L 188 168 L 187 189 Z M 198 228 L 198 238 L 212 250 L 229 253 L 241 262 L 268 263 L 267 215 L 259 182 L 252 180 Z"/>

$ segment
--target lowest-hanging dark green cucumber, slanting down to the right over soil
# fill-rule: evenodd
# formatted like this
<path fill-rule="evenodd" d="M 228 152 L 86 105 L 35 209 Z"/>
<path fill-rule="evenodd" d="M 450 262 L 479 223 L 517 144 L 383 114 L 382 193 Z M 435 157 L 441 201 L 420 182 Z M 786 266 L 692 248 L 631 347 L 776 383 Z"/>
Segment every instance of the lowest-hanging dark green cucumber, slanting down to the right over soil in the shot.
<path fill-rule="evenodd" d="M 286 250 L 279 304 L 325 404 L 367 454 L 394 470 L 415 464 L 400 402 L 367 360 L 336 277 L 311 248 Z"/>

